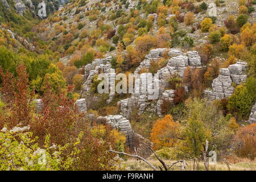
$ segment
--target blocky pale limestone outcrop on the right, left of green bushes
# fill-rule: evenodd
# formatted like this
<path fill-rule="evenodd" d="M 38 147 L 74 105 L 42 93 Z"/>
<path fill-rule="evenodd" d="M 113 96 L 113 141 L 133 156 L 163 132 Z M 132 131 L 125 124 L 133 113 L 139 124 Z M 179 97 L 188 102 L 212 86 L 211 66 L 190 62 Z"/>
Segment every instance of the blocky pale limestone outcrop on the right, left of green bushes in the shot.
<path fill-rule="evenodd" d="M 234 84 L 241 84 L 246 80 L 246 62 L 237 62 L 230 65 L 228 68 L 221 68 L 220 75 L 213 80 L 212 90 L 204 90 L 204 97 L 209 100 L 221 100 L 229 97 L 234 92 Z"/>

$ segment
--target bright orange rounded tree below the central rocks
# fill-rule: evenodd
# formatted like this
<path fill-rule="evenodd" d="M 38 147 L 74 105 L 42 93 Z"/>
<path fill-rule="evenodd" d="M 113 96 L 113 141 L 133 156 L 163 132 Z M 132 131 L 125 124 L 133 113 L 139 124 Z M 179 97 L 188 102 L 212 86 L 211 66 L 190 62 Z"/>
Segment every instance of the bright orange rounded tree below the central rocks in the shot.
<path fill-rule="evenodd" d="M 174 147 L 179 142 L 180 124 L 175 122 L 171 115 L 155 122 L 150 139 L 155 149 Z"/>

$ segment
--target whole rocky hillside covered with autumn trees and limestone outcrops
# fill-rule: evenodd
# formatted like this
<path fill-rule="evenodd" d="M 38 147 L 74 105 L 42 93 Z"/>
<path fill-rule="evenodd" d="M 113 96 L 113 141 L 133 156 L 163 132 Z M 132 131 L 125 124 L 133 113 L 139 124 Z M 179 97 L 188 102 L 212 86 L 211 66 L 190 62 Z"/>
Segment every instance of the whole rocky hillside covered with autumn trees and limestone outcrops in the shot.
<path fill-rule="evenodd" d="M 255 170 L 255 0 L 39 3 L 0 1 L 0 134 L 49 156 L 20 168 Z"/>

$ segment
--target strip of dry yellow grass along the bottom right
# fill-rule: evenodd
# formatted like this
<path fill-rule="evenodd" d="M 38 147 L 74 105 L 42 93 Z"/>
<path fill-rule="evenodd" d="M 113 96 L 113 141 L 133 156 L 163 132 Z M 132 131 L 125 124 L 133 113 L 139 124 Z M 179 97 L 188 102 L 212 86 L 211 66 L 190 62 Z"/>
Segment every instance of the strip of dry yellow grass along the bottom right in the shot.
<path fill-rule="evenodd" d="M 150 159 L 149 160 L 153 165 L 159 166 L 160 163 L 158 160 Z M 175 161 L 174 160 L 164 160 L 166 164 L 172 164 Z M 193 161 L 186 161 L 188 163 L 188 166 L 186 167 L 187 171 L 193 170 Z M 129 159 L 126 162 L 127 169 L 130 171 L 148 171 L 152 170 L 149 166 L 147 166 L 146 163 L 143 161 L 138 161 L 135 159 Z M 197 166 L 197 165 L 196 165 Z M 256 170 L 256 161 L 254 160 L 251 162 L 250 160 L 244 159 L 241 160 L 241 162 L 229 164 L 230 171 L 255 171 Z M 209 168 L 211 171 L 228 171 L 228 166 L 225 163 L 217 162 L 216 165 L 209 165 Z M 204 171 L 204 163 L 199 162 L 198 168 L 196 167 L 198 171 Z M 180 171 L 180 168 L 178 167 L 172 167 L 170 169 L 171 171 Z"/>

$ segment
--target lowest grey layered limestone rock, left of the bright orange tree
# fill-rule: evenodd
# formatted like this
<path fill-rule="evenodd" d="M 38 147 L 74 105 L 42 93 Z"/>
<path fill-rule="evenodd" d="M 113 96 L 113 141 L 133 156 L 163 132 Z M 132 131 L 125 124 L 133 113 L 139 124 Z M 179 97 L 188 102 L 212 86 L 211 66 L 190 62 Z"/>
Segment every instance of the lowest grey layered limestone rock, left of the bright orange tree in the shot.
<path fill-rule="evenodd" d="M 126 144 L 131 146 L 133 142 L 133 129 L 131 129 L 129 120 L 122 115 L 107 115 L 105 117 L 98 117 L 98 119 L 102 118 L 106 119 L 106 122 L 109 123 L 113 129 L 124 133 L 126 135 Z"/>

